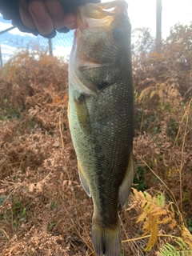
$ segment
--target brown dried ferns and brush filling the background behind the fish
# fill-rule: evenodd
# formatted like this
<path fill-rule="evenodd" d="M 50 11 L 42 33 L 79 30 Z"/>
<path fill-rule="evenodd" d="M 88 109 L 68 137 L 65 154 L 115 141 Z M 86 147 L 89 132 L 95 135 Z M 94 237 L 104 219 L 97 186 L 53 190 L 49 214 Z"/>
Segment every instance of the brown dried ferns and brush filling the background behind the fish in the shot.
<path fill-rule="evenodd" d="M 122 255 L 192 255 L 192 24 L 155 51 L 133 31 L 134 185 Z M 137 38 L 137 40 L 136 40 Z M 0 254 L 94 255 L 67 121 L 68 63 L 20 51 L 0 70 Z"/>

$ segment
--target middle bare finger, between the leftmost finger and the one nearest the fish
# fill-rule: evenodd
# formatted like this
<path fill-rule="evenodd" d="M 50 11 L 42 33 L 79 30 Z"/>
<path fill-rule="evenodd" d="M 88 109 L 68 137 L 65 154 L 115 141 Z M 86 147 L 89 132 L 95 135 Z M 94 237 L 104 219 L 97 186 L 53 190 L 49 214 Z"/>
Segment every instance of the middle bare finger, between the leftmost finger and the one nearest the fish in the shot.
<path fill-rule="evenodd" d="M 42 0 L 31 0 L 29 10 L 39 34 L 50 34 L 54 30 L 54 24 Z"/>

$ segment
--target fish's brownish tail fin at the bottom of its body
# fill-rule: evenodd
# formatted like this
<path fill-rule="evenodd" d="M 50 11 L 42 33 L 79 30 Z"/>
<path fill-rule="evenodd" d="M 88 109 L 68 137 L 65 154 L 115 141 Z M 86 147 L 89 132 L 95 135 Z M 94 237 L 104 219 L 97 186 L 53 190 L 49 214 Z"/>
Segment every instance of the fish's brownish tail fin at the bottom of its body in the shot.
<path fill-rule="evenodd" d="M 113 230 L 104 229 L 97 222 L 92 222 L 92 242 L 94 251 L 99 256 L 119 256 L 121 251 L 120 225 Z"/>

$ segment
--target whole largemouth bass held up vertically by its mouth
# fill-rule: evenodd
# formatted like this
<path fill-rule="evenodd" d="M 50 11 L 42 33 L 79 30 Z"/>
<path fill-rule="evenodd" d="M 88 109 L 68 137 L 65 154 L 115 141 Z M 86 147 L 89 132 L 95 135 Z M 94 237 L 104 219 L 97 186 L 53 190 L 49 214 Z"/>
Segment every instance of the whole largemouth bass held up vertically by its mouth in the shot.
<path fill-rule="evenodd" d="M 119 204 L 134 176 L 131 25 L 124 0 L 77 10 L 69 62 L 70 134 L 82 187 L 94 204 L 91 237 L 99 256 L 119 256 Z"/>

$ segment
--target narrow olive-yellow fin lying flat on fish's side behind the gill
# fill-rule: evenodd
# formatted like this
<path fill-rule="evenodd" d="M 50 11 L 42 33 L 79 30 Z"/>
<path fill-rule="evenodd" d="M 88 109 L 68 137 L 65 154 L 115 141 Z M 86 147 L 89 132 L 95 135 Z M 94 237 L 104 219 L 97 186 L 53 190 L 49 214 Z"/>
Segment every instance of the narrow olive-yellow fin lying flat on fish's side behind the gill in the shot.
<path fill-rule="evenodd" d="M 74 95 L 78 123 L 84 134 L 90 134 L 90 116 L 83 94 Z"/>

